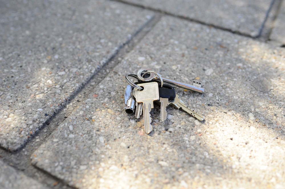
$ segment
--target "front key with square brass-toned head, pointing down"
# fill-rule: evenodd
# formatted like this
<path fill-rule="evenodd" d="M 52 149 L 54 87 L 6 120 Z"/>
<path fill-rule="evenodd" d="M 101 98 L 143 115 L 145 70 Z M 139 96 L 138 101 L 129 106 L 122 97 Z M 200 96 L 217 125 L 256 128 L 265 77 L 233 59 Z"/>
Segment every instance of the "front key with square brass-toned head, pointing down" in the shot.
<path fill-rule="evenodd" d="M 153 101 L 159 99 L 157 82 L 142 83 L 138 86 L 143 87 L 143 90 L 134 89 L 133 95 L 138 103 L 143 103 L 143 119 L 144 130 L 149 134 L 153 128 L 151 125 L 150 110 L 153 108 Z"/>

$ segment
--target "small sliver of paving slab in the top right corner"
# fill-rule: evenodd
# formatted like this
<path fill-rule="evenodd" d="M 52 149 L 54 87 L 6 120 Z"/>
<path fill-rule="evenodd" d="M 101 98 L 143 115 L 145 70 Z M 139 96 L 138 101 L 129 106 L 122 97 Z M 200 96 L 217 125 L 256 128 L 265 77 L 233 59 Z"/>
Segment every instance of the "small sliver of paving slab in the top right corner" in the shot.
<path fill-rule="evenodd" d="M 277 19 L 274 24 L 274 28 L 272 33 L 270 34 L 270 39 L 274 41 L 278 41 L 285 45 L 285 2 L 282 2 L 282 6 L 280 7 L 280 12 L 277 16 Z"/>

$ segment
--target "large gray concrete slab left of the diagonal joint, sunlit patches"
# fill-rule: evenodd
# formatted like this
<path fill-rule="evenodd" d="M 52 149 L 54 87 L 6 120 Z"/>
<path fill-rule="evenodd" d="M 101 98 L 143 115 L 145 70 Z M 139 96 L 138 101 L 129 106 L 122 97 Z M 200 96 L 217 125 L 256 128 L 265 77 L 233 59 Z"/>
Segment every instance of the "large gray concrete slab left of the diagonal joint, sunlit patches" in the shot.
<path fill-rule="evenodd" d="M 16 150 L 153 13 L 112 1 L 1 1 L 0 146 Z"/>

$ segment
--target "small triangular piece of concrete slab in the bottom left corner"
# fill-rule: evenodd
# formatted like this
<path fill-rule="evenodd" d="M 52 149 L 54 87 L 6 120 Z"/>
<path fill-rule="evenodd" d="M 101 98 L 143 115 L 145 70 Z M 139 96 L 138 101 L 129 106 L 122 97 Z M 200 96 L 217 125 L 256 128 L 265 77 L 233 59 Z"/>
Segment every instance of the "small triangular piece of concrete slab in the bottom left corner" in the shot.
<path fill-rule="evenodd" d="M 47 189 L 36 180 L 20 173 L 13 167 L 0 160 L 0 188 L 1 189 Z"/>

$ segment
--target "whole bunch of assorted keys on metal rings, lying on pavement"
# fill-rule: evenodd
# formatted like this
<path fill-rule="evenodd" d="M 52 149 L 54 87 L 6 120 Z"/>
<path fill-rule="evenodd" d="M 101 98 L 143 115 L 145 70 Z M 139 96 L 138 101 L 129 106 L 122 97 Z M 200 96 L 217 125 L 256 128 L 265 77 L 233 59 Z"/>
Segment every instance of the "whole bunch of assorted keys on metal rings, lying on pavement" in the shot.
<path fill-rule="evenodd" d="M 129 76 L 137 78 L 138 82 L 132 82 L 128 78 Z M 135 113 L 137 119 L 143 115 L 146 134 L 149 134 L 153 130 L 150 111 L 153 109 L 154 101 L 160 104 L 161 121 L 165 121 L 167 118 L 166 108 L 168 106 L 182 109 L 200 121 L 205 119 L 203 115 L 200 115 L 194 109 L 190 109 L 185 105 L 173 87 L 176 86 L 203 93 L 204 89 L 201 88 L 200 83 L 194 82 L 193 85 L 190 85 L 171 80 L 162 77 L 159 73 L 152 71 L 150 68 L 141 68 L 137 72 L 137 75 L 128 73 L 125 78 L 129 83 L 125 91 L 125 111 L 128 114 Z M 160 85 L 158 82 L 160 82 Z"/>

